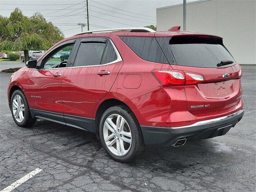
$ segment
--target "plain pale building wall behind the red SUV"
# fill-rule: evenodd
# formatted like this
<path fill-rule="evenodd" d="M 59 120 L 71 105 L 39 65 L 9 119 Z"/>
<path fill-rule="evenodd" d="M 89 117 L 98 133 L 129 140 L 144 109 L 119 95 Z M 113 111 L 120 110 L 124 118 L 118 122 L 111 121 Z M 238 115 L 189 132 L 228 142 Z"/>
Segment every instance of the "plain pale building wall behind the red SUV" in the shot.
<path fill-rule="evenodd" d="M 186 30 L 223 38 L 240 64 L 256 64 L 256 0 L 199 0 L 186 6 Z M 156 9 L 157 30 L 183 25 L 183 5 Z"/>

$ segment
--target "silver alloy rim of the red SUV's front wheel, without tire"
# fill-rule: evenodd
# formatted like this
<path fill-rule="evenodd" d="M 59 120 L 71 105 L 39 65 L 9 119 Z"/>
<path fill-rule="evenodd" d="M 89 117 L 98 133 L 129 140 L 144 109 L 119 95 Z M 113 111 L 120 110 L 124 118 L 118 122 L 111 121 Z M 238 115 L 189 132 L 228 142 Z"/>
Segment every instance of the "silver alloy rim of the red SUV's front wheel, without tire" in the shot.
<path fill-rule="evenodd" d="M 15 95 L 12 100 L 12 113 L 17 122 L 22 122 L 24 120 L 25 108 L 24 102 L 19 95 Z"/>

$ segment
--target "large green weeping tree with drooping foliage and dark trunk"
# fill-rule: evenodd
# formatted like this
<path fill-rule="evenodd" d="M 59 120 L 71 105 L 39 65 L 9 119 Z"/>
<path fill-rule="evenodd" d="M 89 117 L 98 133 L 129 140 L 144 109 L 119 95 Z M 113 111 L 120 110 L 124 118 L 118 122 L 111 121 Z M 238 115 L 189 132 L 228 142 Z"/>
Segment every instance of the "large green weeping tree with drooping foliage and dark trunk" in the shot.
<path fill-rule="evenodd" d="M 0 15 L 0 50 L 22 50 L 26 62 L 28 50 L 47 50 L 63 38 L 61 30 L 38 12 L 29 18 L 16 8 L 9 18 Z"/>

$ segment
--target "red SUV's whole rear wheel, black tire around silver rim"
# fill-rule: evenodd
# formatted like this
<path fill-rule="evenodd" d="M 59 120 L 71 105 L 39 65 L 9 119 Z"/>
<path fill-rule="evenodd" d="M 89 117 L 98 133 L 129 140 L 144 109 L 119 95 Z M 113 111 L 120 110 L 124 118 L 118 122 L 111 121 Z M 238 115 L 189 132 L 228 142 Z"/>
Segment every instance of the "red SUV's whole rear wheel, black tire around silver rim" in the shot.
<path fill-rule="evenodd" d="M 117 127 L 116 133 L 113 131 L 113 129 L 112 131 L 110 131 L 107 128 L 108 127 L 107 125 L 110 125 L 108 124 L 108 122 L 111 118 L 112 118 L 112 122 L 116 121 L 116 123 L 113 122 L 114 124 L 118 124 L 117 118 L 121 119 L 120 124 L 122 124 L 121 122 L 125 121 L 123 123 L 123 128 L 121 128 L 121 126 L 116 126 Z M 124 120 L 122 120 L 122 118 Z M 122 131 L 120 130 L 119 132 L 118 127 L 122 129 Z M 142 132 L 140 129 L 140 125 L 138 124 L 138 121 L 136 120 L 134 114 L 132 114 L 132 112 L 130 112 L 130 110 L 125 106 L 113 106 L 108 108 L 100 119 L 99 132 L 100 132 L 100 141 L 102 143 L 104 150 L 115 161 L 118 161 L 121 163 L 132 162 L 144 152 L 145 146 L 144 146 L 144 140 L 143 140 Z M 122 135 L 121 133 L 125 135 L 129 134 L 131 135 L 131 137 Z M 112 136 L 113 134 L 114 134 L 114 137 Z M 111 136 L 113 138 L 105 142 L 105 139 L 110 138 Z M 130 144 L 125 141 L 130 142 Z M 120 143 L 119 145 L 120 147 L 117 146 L 118 143 Z M 123 148 L 121 146 L 123 146 Z M 123 150 L 121 150 L 121 148 Z M 119 152 L 118 152 L 118 149 L 120 149 Z"/>

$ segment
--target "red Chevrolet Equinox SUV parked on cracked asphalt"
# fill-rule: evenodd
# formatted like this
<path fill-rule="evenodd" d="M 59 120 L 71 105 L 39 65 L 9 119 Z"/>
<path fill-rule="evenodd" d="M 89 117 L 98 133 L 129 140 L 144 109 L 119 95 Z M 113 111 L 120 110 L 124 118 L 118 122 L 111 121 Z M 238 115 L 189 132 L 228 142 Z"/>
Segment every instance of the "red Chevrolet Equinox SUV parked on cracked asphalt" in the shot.
<path fill-rule="evenodd" d="M 63 61 L 54 57 L 70 51 Z M 11 76 L 18 126 L 37 118 L 93 132 L 116 161 L 145 145 L 226 134 L 244 114 L 242 69 L 218 36 L 119 28 L 66 38 Z"/>

